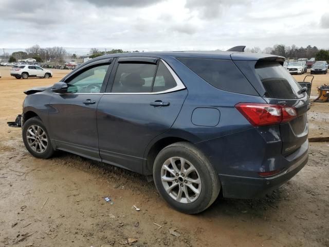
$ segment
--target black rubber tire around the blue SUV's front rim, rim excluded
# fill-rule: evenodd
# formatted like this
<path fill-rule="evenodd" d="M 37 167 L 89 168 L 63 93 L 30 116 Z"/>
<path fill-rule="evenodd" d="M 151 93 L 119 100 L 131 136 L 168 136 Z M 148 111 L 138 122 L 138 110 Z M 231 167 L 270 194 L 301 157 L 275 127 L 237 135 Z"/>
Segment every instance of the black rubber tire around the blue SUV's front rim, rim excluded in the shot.
<path fill-rule="evenodd" d="M 32 128 L 32 126 L 41 127 L 41 130 L 44 131 L 44 133 L 45 133 L 45 136 L 47 138 L 47 146 L 46 146 L 46 149 L 43 152 L 36 152 L 29 145 L 29 140 L 28 140 L 28 137 L 27 137 L 27 132 L 28 132 L 28 130 L 29 130 L 30 127 Z M 40 133 L 43 133 L 43 132 L 40 132 Z M 50 142 L 50 138 L 49 138 L 47 129 L 44 126 L 43 122 L 41 121 L 41 119 L 39 117 L 32 117 L 32 118 L 28 119 L 26 122 L 24 122 L 24 125 L 22 127 L 22 137 L 23 137 L 23 142 L 24 142 L 24 145 L 25 145 L 26 149 L 34 157 L 38 157 L 38 158 L 50 158 L 52 156 L 52 154 L 54 153 L 54 149 L 53 149 L 53 147 L 51 145 L 51 142 Z M 43 142 L 43 144 L 45 144 L 45 142 Z"/>

